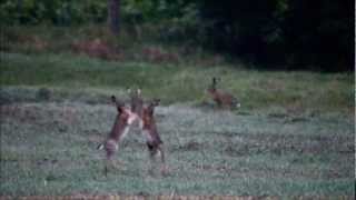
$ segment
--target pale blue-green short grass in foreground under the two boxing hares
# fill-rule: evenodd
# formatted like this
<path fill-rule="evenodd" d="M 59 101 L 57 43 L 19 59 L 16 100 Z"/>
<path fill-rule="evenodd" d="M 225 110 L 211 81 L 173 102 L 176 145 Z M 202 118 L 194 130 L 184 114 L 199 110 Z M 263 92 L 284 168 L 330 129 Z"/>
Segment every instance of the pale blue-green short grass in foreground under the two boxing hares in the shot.
<path fill-rule="evenodd" d="M 82 102 L 2 106 L 2 196 L 237 194 L 354 196 L 353 122 L 290 122 L 187 106 L 159 107 L 169 173 L 148 173 L 145 141 L 135 129 L 106 178 L 97 151 L 116 109 Z"/>

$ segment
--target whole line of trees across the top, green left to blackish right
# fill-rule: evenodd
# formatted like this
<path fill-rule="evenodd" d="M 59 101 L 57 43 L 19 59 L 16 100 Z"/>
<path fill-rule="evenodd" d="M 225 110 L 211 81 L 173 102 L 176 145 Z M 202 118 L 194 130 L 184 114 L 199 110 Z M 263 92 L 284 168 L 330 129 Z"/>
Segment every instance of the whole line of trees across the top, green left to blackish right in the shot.
<path fill-rule="evenodd" d="M 4 26 L 79 26 L 110 21 L 108 13 L 115 11 L 117 31 L 121 24 L 161 24 L 162 40 L 187 41 L 266 69 L 343 71 L 354 70 L 355 63 L 354 3 L 352 0 L 3 0 L 0 18 Z"/>

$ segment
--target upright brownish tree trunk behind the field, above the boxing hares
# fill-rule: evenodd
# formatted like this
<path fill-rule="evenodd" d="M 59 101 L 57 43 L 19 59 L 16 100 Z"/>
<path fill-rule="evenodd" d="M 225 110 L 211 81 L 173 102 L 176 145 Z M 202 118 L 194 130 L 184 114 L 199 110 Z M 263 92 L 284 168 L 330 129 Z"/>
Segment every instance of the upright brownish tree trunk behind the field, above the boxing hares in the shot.
<path fill-rule="evenodd" d="M 120 0 L 109 0 L 109 28 L 113 34 L 120 32 Z"/>

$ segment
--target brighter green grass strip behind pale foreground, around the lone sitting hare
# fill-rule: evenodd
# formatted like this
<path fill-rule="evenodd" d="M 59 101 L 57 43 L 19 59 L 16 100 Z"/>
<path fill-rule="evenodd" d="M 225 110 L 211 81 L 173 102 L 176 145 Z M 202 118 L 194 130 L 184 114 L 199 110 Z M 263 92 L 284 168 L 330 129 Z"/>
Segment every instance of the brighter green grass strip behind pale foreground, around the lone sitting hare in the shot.
<path fill-rule="evenodd" d="M 312 116 L 337 112 L 349 117 L 354 112 L 350 73 L 108 62 L 68 53 L 29 56 L 2 52 L 1 57 L 2 86 L 97 90 L 106 91 L 100 93 L 107 96 L 140 87 L 146 97 L 160 98 L 166 104 L 200 104 L 208 100 L 206 89 L 215 76 L 221 78 L 219 88 L 236 96 L 246 111 Z"/>

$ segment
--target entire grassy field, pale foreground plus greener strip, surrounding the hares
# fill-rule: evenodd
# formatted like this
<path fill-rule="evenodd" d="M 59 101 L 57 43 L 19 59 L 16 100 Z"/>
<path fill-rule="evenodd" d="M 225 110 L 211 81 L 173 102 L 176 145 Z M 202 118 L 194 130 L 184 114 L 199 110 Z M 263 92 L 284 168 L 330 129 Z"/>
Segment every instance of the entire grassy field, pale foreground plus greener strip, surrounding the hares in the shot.
<path fill-rule="evenodd" d="M 238 110 L 205 93 L 211 77 Z M 120 143 L 102 173 L 111 94 L 140 87 L 156 118 L 167 176 L 148 173 L 144 138 Z M 355 197 L 354 74 L 103 61 L 70 52 L 1 52 L 0 196 L 234 194 Z"/>

